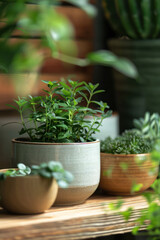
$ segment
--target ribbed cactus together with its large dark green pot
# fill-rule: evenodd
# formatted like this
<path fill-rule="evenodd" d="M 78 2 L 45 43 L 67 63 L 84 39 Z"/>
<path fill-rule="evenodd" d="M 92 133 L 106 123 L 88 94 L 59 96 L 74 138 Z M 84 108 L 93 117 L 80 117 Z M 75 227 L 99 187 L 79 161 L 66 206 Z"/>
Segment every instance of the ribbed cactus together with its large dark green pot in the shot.
<path fill-rule="evenodd" d="M 120 130 L 133 127 L 133 119 L 146 111 L 159 112 L 160 2 L 103 0 L 106 18 L 120 38 L 108 41 L 109 49 L 129 58 L 139 72 L 138 81 L 115 72 Z M 138 106 L 138 107 L 137 107 Z"/>

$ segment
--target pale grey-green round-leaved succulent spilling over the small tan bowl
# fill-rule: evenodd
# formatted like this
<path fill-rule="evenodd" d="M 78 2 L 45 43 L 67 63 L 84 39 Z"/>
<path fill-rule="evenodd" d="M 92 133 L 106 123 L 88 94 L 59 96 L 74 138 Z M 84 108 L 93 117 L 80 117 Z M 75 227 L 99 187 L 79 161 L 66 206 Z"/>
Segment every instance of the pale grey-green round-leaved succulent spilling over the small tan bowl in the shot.
<path fill-rule="evenodd" d="M 58 185 L 62 188 L 68 187 L 68 184 L 73 181 L 73 175 L 64 170 L 60 162 L 50 161 L 48 163 L 41 163 L 39 166 L 33 165 L 31 167 L 19 163 L 17 167 L 17 169 L 9 169 L 6 172 L 0 172 L 0 180 L 5 180 L 7 177 L 39 175 L 44 178 L 55 178 Z"/>

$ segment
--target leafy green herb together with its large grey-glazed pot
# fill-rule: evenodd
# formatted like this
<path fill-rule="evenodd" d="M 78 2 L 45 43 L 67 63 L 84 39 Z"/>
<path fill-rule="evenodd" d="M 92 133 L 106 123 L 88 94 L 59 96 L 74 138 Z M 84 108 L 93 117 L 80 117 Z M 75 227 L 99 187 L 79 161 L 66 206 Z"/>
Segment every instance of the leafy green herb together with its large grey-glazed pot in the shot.
<path fill-rule="evenodd" d="M 100 179 L 100 142 L 92 137 L 99 131 L 104 118 L 111 115 L 107 103 L 93 100 L 98 84 L 76 82 L 46 82 L 45 96 L 23 97 L 15 100 L 20 113 L 20 135 L 13 139 L 13 167 L 59 161 L 72 172 L 74 182 L 60 189 L 58 204 L 76 204 L 87 199 L 97 188 Z M 83 104 L 83 106 L 82 106 Z M 91 104 L 98 109 L 91 109 Z M 100 114 L 100 116 L 97 116 Z M 92 119 L 86 118 L 92 116 Z"/>

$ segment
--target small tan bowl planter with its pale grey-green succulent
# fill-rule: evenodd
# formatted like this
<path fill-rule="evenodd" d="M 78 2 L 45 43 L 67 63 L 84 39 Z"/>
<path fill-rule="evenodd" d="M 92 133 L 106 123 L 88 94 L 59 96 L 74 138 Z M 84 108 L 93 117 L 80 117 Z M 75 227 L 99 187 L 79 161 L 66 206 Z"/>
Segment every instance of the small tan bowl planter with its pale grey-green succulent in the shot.
<path fill-rule="evenodd" d="M 50 161 L 31 168 L 19 163 L 16 169 L 0 170 L 0 203 L 9 212 L 41 213 L 49 209 L 58 185 L 67 187 L 73 176 L 59 162 Z"/>

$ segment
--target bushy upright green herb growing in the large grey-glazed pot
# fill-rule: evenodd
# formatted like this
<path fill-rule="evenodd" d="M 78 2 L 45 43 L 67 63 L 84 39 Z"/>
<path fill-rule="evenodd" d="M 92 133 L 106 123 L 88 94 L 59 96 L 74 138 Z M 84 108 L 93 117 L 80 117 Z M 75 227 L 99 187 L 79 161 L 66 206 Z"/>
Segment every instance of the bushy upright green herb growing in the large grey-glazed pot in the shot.
<path fill-rule="evenodd" d="M 109 106 L 93 97 L 103 92 L 99 84 L 43 81 L 45 96 L 18 97 L 15 108 L 21 118 L 20 135 L 27 134 L 32 142 L 90 142 L 99 131 L 104 118 L 111 115 Z M 91 105 L 98 109 L 92 109 Z"/>

